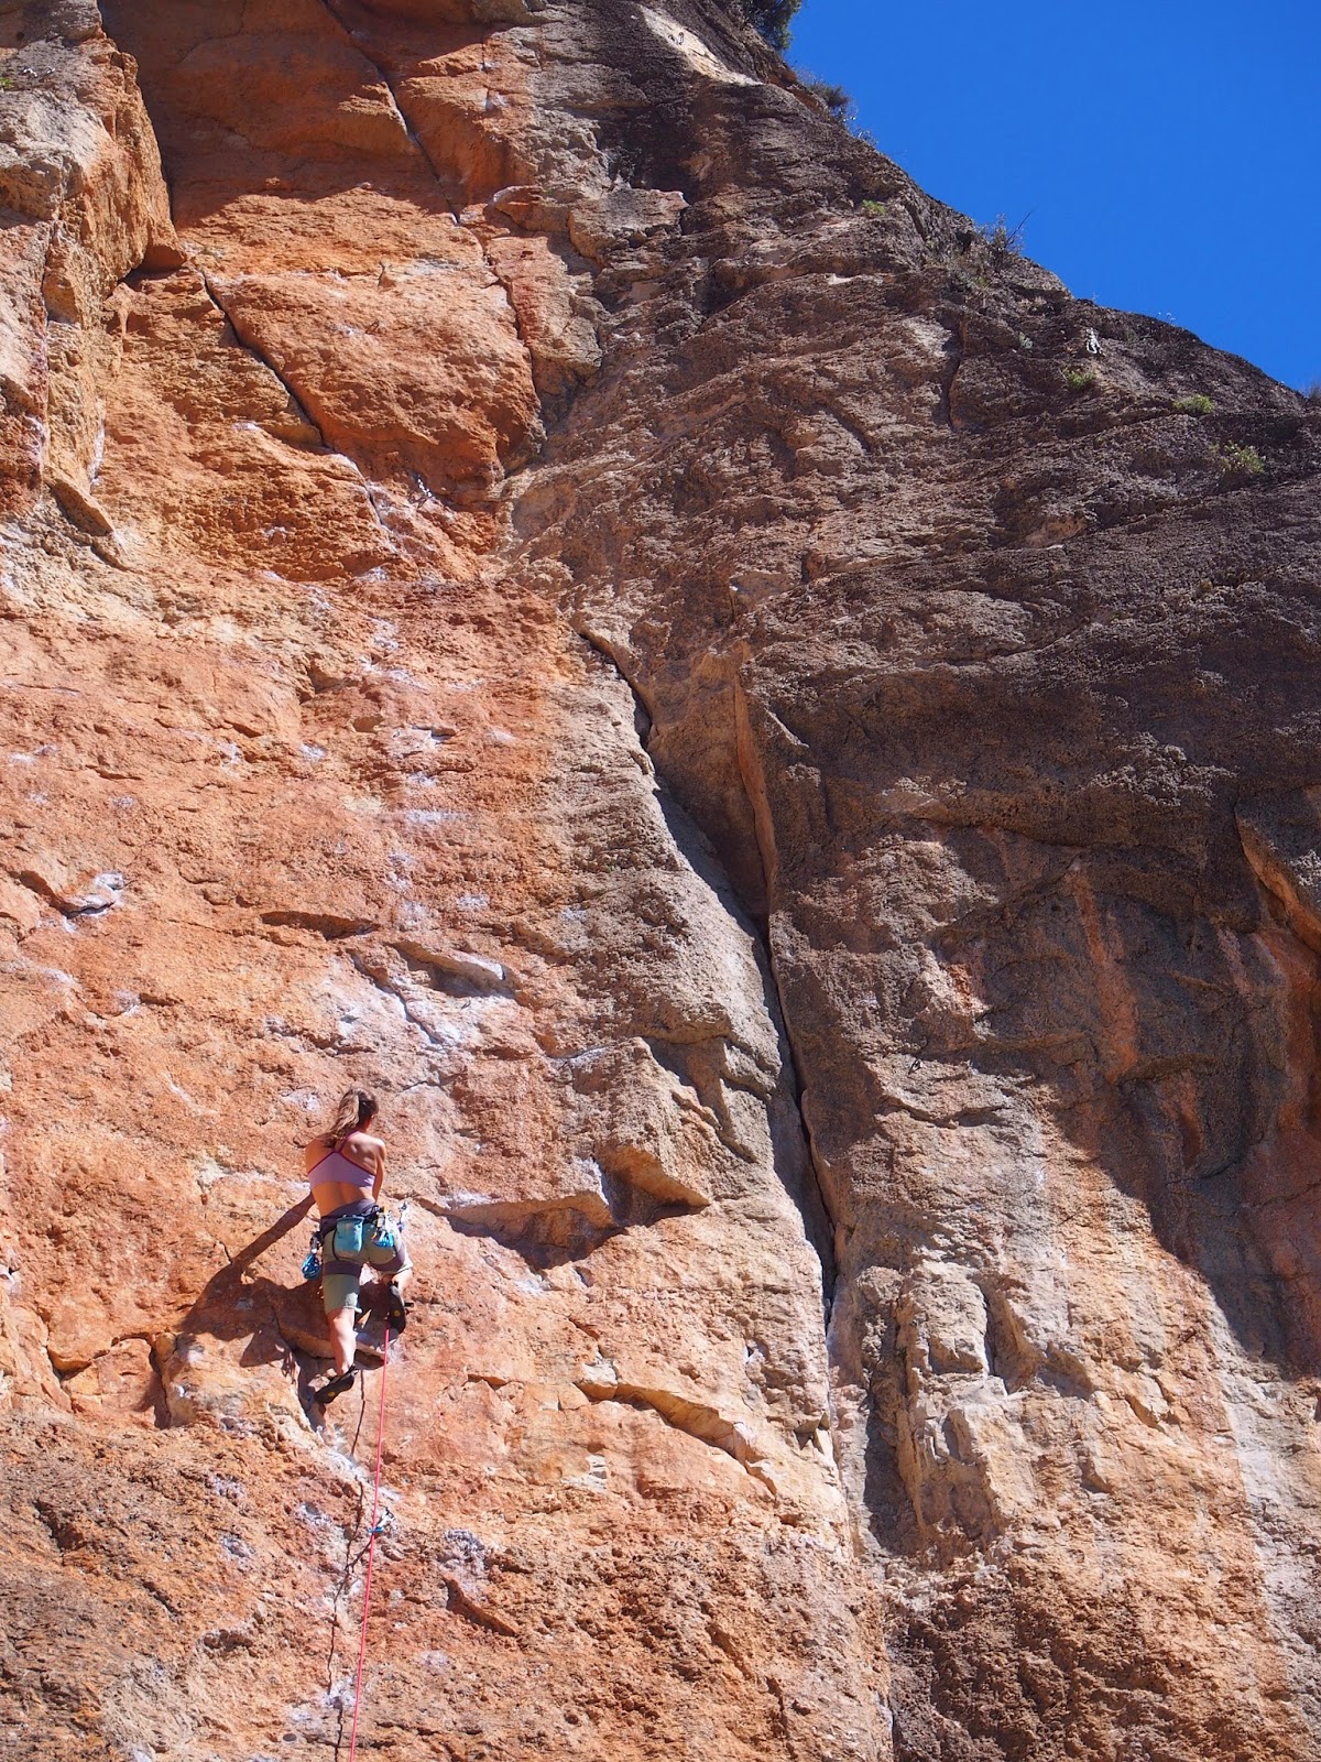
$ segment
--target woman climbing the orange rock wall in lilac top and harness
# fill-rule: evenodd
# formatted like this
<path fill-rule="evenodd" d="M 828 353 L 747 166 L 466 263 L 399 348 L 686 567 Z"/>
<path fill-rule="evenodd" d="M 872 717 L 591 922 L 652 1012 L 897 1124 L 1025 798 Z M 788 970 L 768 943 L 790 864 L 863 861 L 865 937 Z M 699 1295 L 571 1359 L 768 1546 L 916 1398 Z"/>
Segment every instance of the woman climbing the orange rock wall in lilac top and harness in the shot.
<path fill-rule="evenodd" d="M 321 1406 L 352 1388 L 358 1366 L 358 1304 L 363 1270 L 387 1283 L 386 1320 L 400 1334 L 407 1320 L 403 1286 L 412 1267 L 398 1225 L 380 1209 L 386 1145 L 368 1136 L 379 1103 L 366 1089 L 349 1089 L 335 1124 L 303 1151 L 312 1202 L 321 1214 L 321 1299 L 335 1346 L 335 1374 L 315 1392 Z"/>

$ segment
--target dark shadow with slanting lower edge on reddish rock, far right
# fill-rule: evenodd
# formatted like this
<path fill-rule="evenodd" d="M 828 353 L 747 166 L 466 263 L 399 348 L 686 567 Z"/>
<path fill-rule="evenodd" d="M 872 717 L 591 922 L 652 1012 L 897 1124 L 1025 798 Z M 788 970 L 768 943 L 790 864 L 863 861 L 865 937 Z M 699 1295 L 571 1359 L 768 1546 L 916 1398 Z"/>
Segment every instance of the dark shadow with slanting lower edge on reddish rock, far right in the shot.
<path fill-rule="evenodd" d="M 1207 1279 L 1245 1353 L 1321 1373 L 1314 948 L 1268 876 L 1251 927 L 1099 890 L 1081 916 L 1096 1059 L 1089 1094 L 1081 1064 L 1064 1078 L 1055 1122 Z"/>

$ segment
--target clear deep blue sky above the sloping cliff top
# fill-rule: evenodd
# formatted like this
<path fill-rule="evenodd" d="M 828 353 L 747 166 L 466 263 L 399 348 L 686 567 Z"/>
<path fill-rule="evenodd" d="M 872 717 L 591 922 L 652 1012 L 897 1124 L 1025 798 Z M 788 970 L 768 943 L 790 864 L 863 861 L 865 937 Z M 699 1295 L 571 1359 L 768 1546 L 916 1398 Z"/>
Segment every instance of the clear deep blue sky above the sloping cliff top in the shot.
<path fill-rule="evenodd" d="M 1317 0 L 803 0 L 789 60 L 1074 294 L 1321 381 Z"/>

